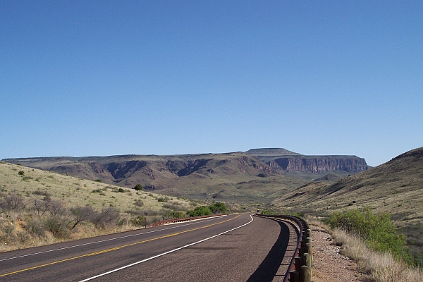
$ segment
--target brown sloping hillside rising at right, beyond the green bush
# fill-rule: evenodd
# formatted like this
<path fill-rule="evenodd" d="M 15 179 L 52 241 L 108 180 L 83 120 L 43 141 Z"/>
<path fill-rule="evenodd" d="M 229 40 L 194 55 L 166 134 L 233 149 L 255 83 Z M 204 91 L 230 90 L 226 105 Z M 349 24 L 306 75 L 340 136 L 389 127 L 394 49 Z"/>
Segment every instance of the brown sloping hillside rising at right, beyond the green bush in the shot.
<path fill-rule="evenodd" d="M 388 212 L 414 246 L 412 251 L 423 253 L 423 147 L 333 185 L 308 183 L 272 204 L 322 216 L 362 207 Z"/>

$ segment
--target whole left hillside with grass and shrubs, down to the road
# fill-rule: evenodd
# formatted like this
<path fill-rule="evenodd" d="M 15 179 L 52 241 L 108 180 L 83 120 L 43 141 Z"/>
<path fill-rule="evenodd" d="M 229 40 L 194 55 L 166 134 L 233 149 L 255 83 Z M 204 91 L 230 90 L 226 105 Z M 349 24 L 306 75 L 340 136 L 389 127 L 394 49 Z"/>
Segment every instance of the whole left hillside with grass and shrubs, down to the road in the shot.
<path fill-rule="evenodd" d="M 184 217 L 197 202 L 0 162 L 0 252 Z"/>

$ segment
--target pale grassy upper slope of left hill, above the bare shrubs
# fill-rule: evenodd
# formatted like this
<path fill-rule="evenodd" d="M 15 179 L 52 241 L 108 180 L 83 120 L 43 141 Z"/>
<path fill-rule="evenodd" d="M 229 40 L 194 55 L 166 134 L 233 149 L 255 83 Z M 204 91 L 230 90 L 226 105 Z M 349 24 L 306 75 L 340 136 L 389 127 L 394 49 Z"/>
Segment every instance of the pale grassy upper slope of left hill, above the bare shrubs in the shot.
<path fill-rule="evenodd" d="M 19 171 L 23 171 L 24 176 L 19 176 Z M 47 192 L 52 200 L 61 200 L 68 207 L 89 204 L 96 209 L 117 207 L 124 212 L 130 209 L 139 209 L 134 202 L 142 200 L 144 202 L 142 209 L 159 211 L 164 204 L 164 202 L 157 202 L 157 198 L 163 196 L 155 193 L 128 188 L 123 188 L 124 192 L 118 192 L 121 187 L 116 185 L 8 163 L 0 163 L 0 184 L 0 191 L 3 194 L 13 192 L 22 195 L 25 201 L 30 201 L 35 197 L 42 198 L 42 196 L 35 195 L 35 191 Z M 94 190 L 97 192 L 93 192 Z M 104 195 L 100 195 L 99 190 Z M 190 202 L 186 200 L 175 198 L 173 201 L 178 202 L 181 206 L 191 207 Z"/>

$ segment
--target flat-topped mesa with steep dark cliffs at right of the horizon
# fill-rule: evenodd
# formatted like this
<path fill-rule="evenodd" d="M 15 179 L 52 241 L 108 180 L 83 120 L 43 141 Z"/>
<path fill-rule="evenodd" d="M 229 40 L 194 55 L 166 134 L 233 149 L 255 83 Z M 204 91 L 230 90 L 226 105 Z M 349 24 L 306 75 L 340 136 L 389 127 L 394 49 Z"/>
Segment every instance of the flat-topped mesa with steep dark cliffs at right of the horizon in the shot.
<path fill-rule="evenodd" d="M 356 156 L 305 156 L 283 148 L 250 149 L 245 153 L 252 154 L 276 170 L 286 172 L 357 173 L 370 168 L 365 159 Z"/>

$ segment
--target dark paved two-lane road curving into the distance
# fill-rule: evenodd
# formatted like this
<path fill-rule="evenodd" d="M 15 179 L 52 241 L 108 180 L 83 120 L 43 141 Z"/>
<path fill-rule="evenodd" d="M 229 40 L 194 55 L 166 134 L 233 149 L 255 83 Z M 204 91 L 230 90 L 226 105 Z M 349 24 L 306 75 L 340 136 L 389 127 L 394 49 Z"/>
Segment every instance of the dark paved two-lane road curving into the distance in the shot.
<path fill-rule="evenodd" d="M 188 221 L 0 253 L 0 281 L 275 281 L 293 237 L 250 214 Z"/>

